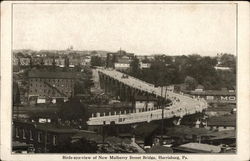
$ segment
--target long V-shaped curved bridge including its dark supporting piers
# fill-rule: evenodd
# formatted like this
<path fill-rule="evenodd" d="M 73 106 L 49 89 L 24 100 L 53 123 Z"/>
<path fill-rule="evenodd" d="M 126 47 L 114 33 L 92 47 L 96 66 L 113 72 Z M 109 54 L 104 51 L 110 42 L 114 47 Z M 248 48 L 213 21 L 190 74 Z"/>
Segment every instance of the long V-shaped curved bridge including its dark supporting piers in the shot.
<path fill-rule="evenodd" d="M 163 92 L 161 87 L 128 76 L 113 69 L 97 69 L 99 74 L 100 87 L 107 93 L 112 93 L 119 97 L 121 101 L 131 101 L 134 107 L 135 95 L 153 96 L 157 99 L 170 100 L 161 108 L 145 109 L 137 111 L 134 108 L 128 111 L 117 111 L 109 113 L 96 113 L 87 121 L 88 125 L 103 124 L 135 124 L 140 122 L 150 122 L 161 119 L 182 118 L 186 115 L 201 113 L 206 109 L 207 102 L 204 99 L 195 99 L 182 93 L 172 91 Z"/>

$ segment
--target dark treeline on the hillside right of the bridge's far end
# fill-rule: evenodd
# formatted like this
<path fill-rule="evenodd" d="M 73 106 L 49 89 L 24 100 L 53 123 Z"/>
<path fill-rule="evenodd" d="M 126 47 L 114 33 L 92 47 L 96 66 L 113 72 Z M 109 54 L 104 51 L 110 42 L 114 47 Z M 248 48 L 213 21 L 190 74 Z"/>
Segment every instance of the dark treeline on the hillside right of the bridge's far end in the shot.
<path fill-rule="evenodd" d="M 203 85 L 209 90 L 232 88 L 236 85 L 234 55 L 223 54 L 220 57 L 202 57 L 197 54 L 175 57 L 160 55 L 155 56 L 150 63 L 150 68 L 140 69 L 139 60 L 135 57 L 130 64 L 131 69 L 128 74 L 156 86 L 185 83 L 188 90 L 195 89 L 197 85 Z M 230 70 L 216 70 L 215 66 L 229 67 Z"/>

